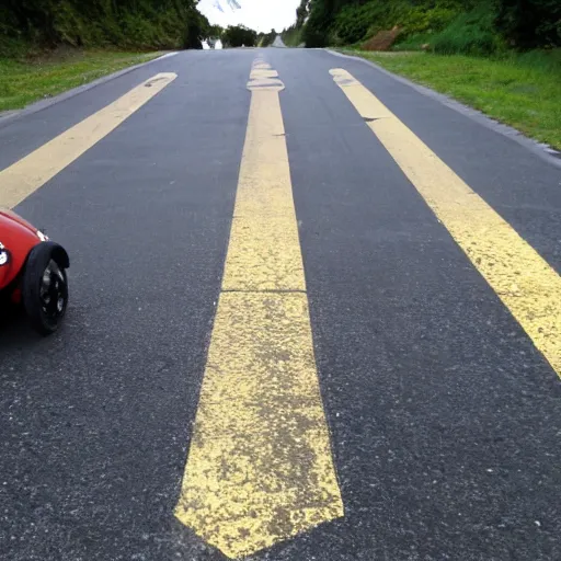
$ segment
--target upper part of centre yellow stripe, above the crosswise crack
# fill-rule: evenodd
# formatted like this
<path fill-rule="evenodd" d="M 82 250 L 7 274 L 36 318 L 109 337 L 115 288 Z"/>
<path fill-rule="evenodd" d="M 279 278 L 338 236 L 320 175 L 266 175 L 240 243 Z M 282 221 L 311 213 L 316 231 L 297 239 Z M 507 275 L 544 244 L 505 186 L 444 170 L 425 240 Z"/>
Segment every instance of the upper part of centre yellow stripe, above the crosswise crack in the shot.
<path fill-rule="evenodd" d="M 222 289 L 305 290 L 278 92 L 252 91 Z"/>

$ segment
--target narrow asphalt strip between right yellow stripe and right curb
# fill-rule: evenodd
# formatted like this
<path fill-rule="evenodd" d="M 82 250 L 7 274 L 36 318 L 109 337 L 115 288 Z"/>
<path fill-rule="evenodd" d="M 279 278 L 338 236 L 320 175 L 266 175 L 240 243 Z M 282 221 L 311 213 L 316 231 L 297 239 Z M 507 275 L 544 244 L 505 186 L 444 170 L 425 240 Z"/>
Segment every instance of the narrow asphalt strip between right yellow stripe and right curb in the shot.
<path fill-rule="evenodd" d="M 344 60 L 343 68 L 375 92 L 381 103 L 561 274 L 559 167 L 545 163 L 510 137 L 481 126 L 469 115 L 422 95 L 362 61 L 320 55 L 328 71 Z"/>

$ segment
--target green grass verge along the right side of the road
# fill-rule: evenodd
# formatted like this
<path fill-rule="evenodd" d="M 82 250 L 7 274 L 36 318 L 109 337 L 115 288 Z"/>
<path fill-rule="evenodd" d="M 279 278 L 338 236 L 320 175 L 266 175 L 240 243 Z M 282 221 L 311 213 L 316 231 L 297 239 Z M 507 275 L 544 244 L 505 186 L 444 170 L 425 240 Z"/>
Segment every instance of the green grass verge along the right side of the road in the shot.
<path fill-rule="evenodd" d="M 561 149 L 561 49 L 480 58 L 345 50 Z"/>

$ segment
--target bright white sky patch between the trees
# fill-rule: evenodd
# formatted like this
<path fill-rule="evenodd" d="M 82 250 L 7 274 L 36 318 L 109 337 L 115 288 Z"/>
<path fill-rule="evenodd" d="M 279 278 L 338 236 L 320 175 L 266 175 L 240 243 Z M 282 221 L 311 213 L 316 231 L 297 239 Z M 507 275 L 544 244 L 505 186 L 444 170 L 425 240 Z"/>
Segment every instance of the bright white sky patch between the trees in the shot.
<path fill-rule="evenodd" d="M 216 8 L 220 3 L 224 13 Z M 226 0 L 201 0 L 198 10 L 210 23 L 226 27 L 245 25 L 252 30 L 270 32 L 273 27 L 280 32 L 296 22 L 296 8 L 300 0 L 238 0 L 240 10 L 233 10 Z"/>

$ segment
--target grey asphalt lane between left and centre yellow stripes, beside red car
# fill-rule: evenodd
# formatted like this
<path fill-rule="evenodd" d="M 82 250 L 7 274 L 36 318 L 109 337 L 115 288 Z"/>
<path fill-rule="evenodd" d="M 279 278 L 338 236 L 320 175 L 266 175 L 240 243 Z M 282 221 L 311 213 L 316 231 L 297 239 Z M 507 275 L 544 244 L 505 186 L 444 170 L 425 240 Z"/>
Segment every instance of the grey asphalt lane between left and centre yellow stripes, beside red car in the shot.
<path fill-rule="evenodd" d="M 173 508 L 253 58 L 207 67 L 174 57 L 172 84 L 16 207 L 68 248 L 71 300 L 55 337 L 38 340 L 24 323 L 1 330 L 1 559 L 198 554 L 197 539 L 183 543 L 188 533 Z M 89 104 L 96 92 L 80 96 Z"/>

